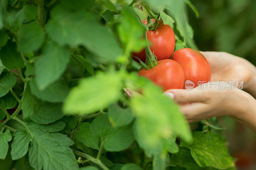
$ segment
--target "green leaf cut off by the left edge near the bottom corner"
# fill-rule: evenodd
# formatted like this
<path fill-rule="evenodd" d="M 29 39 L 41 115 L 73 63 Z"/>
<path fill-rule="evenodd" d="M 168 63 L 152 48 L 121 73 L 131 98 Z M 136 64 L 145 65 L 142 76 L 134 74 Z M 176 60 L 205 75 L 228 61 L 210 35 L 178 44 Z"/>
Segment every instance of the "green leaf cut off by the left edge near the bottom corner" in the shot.
<path fill-rule="evenodd" d="M 8 152 L 8 142 L 12 140 L 10 130 L 6 129 L 5 132 L 0 133 L 0 159 L 5 159 Z"/>

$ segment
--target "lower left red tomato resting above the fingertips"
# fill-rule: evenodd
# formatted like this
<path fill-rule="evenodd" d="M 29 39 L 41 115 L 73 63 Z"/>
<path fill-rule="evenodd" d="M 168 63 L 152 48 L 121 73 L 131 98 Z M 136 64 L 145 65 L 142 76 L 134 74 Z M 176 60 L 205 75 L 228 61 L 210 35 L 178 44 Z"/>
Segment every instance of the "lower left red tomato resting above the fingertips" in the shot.
<path fill-rule="evenodd" d="M 164 91 L 183 88 L 185 75 L 180 64 L 170 59 L 160 60 L 157 63 L 152 69 L 141 69 L 138 75 L 150 79 Z"/>

